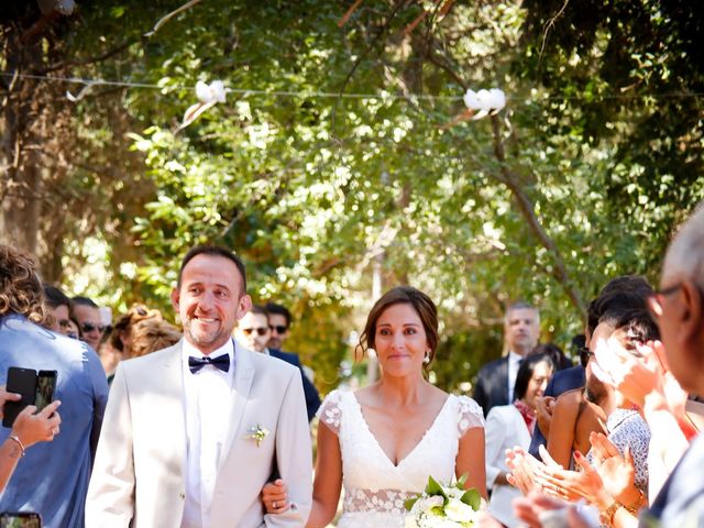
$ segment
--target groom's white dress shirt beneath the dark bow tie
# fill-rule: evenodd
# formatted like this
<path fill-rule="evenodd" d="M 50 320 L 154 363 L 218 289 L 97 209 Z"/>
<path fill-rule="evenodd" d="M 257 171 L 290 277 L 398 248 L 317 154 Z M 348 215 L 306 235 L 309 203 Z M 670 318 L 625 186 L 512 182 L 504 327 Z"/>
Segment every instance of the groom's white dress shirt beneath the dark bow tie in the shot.
<path fill-rule="evenodd" d="M 216 359 L 230 355 L 230 369 L 223 372 L 206 365 L 196 373 L 188 367 L 188 356 L 205 358 L 184 340 L 182 361 L 186 404 L 186 503 L 182 528 L 209 528 L 210 505 L 218 476 L 218 465 L 228 433 L 229 407 L 234 380 L 234 346 L 228 340 L 209 354 Z"/>

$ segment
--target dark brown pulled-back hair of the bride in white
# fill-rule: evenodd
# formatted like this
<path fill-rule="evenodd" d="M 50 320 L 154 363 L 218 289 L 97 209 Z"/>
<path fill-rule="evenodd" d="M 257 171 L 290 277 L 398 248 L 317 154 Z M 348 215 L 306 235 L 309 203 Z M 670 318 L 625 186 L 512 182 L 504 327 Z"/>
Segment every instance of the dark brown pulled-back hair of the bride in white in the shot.
<path fill-rule="evenodd" d="M 361 349 L 365 353 L 369 349 L 374 348 L 374 338 L 376 336 L 376 322 L 382 314 L 394 305 L 410 305 L 418 314 L 422 328 L 426 331 L 426 339 L 430 348 L 430 361 L 436 356 L 438 348 L 438 308 L 436 304 L 426 294 L 411 286 L 397 286 L 386 292 L 375 304 L 366 318 L 364 331 L 360 336 L 360 343 L 356 350 Z"/>

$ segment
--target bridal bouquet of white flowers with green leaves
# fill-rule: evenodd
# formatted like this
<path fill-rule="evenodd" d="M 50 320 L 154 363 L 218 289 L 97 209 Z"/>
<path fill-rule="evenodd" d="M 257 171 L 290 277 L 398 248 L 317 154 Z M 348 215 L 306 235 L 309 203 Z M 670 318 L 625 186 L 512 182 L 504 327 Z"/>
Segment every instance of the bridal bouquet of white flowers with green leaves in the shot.
<path fill-rule="evenodd" d="M 408 510 L 405 528 L 473 527 L 480 516 L 482 497 L 474 488 L 464 490 L 466 475 L 454 486 L 442 486 L 428 477 L 426 491 L 404 503 Z"/>

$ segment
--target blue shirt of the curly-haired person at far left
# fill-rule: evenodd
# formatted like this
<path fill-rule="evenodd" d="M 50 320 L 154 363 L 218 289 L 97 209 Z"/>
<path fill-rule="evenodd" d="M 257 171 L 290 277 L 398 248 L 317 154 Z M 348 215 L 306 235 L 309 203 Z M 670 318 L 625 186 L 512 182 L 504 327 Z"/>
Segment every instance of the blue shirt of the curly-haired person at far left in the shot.
<path fill-rule="evenodd" d="M 98 444 L 108 383 L 86 343 L 51 332 L 26 318 L 0 318 L 0 385 L 8 367 L 57 371 L 61 432 L 35 443 L 20 459 L 0 496 L 0 512 L 36 512 L 47 528 L 82 527 L 92 455 Z M 0 428 L 0 442 L 10 429 Z"/>

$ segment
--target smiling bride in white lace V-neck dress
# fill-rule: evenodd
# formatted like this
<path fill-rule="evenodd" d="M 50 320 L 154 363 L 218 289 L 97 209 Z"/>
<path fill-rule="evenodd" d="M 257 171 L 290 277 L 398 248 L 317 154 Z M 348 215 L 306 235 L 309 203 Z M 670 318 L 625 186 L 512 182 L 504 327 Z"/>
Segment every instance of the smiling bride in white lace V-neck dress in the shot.
<path fill-rule="evenodd" d="M 438 314 L 426 294 L 402 286 L 376 301 L 360 346 L 376 352 L 381 380 L 354 393 L 333 391 L 318 411 L 307 527 L 332 521 L 342 485 L 339 528 L 403 527 L 404 501 L 421 493 L 429 475 L 449 484 L 466 473 L 466 487 L 486 498 L 482 409 L 426 381 L 437 345 Z M 270 514 L 292 507 L 280 480 L 264 487 L 262 499 Z"/>

